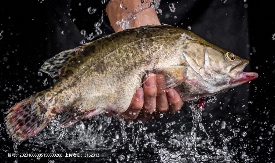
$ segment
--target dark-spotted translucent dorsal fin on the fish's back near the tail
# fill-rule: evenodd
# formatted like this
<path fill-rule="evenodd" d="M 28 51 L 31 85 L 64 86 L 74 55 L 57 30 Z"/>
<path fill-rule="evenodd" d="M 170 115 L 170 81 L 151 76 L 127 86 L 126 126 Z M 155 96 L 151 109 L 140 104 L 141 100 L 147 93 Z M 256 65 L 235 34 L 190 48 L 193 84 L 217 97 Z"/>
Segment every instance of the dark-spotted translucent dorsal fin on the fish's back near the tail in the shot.
<path fill-rule="evenodd" d="M 91 43 L 91 42 L 90 42 Z M 88 45 L 90 43 L 86 43 L 85 45 Z M 62 74 L 62 70 L 66 67 L 68 64 L 68 60 L 75 55 L 75 53 L 78 53 L 81 48 L 83 48 L 85 45 L 76 47 L 71 50 L 62 51 L 59 54 L 56 54 L 55 56 L 48 59 L 39 69 L 39 71 L 45 72 L 50 75 L 52 78 L 60 77 Z"/>

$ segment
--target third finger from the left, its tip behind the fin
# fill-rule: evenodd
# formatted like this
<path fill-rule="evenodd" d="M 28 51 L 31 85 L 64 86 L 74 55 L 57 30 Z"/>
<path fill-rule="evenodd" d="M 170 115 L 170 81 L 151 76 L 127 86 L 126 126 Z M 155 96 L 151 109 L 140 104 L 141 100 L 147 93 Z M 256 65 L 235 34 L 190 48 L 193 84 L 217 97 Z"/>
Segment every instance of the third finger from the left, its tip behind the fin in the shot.
<path fill-rule="evenodd" d="M 163 79 L 163 75 L 156 75 L 157 85 L 160 85 L 160 82 L 163 81 Z M 159 112 L 165 112 L 169 108 L 166 92 L 164 92 L 160 87 L 157 88 L 158 94 L 156 97 L 156 110 Z"/>

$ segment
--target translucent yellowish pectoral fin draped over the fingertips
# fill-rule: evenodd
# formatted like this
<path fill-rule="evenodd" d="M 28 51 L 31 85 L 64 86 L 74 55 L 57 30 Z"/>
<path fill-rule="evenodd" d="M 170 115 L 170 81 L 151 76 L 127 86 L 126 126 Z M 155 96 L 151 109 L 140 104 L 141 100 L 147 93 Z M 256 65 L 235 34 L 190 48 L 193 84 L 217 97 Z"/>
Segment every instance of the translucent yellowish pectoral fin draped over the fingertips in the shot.
<path fill-rule="evenodd" d="M 169 88 L 180 85 L 188 78 L 187 69 L 186 66 L 170 66 L 156 71 L 158 87 L 168 92 Z"/>

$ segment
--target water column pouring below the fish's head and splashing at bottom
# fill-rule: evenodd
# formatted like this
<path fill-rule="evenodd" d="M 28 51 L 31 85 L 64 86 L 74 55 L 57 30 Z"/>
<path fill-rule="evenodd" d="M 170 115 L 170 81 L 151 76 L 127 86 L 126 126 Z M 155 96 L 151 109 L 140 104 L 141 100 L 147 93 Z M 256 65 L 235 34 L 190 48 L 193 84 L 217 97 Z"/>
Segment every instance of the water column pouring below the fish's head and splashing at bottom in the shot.
<path fill-rule="evenodd" d="M 192 110 L 192 116 L 193 116 L 193 127 L 191 129 L 190 132 L 190 137 L 187 138 L 187 140 L 185 139 L 183 141 L 183 147 L 176 152 L 171 152 L 168 151 L 166 148 L 161 148 L 158 151 L 158 154 L 160 156 L 160 159 L 162 162 L 198 162 L 198 161 L 231 161 L 231 158 L 237 154 L 237 152 L 233 152 L 233 151 L 228 151 L 228 147 L 227 144 L 228 142 L 233 138 L 233 137 L 223 137 L 222 134 L 220 134 L 220 137 L 222 137 L 222 148 L 218 149 L 218 148 L 214 148 L 214 146 L 212 145 L 213 139 L 211 139 L 211 137 L 207 134 L 206 130 L 204 129 L 204 126 L 202 124 L 202 107 L 205 106 L 208 102 L 215 102 L 216 101 L 216 97 L 215 96 L 211 96 L 208 97 L 204 100 L 198 100 L 198 101 L 189 101 L 189 103 L 191 104 L 189 107 Z M 196 128 L 199 125 L 200 130 L 202 130 L 204 132 L 204 134 L 206 134 L 207 136 L 207 144 L 208 144 L 208 149 L 213 151 L 216 150 L 216 154 L 215 155 L 210 155 L 210 154 L 199 154 L 198 150 L 197 150 L 197 132 L 196 132 Z M 206 148 L 206 143 L 203 143 L 204 140 L 202 141 L 203 146 L 200 144 L 200 148 L 205 148 L 203 149 L 204 153 L 207 153 L 207 148 Z M 209 153 L 213 153 L 213 152 L 209 152 Z"/>

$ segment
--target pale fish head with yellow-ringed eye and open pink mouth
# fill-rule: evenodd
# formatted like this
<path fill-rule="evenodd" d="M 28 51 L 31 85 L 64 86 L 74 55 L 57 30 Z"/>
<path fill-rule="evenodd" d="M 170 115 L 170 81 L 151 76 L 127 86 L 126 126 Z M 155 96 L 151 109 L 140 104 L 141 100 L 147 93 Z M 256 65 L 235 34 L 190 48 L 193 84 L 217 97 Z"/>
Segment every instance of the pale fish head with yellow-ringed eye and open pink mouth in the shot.
<path fill-rule="evenodd" d="M 180 48 L 180 55 L 196 74 L 204 92 L 226 92 L 258 77 L 255 72 L 243 72 L 248 65 L 237 55 L 223 50 L 197 36 Z"/>

